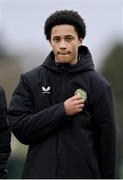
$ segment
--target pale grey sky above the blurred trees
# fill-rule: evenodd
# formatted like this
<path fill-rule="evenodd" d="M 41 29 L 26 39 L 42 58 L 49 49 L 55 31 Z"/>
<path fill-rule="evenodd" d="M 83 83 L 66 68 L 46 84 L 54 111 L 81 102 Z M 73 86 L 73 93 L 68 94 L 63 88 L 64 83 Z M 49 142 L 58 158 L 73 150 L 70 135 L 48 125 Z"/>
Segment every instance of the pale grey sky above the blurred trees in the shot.
<path fill-rule="evenodd" d="M 123 39 L 122 0 L 0 0 L 0 8 L 0 29 L 13 49 L 31 46 L 47 54 L 50 46 L 44 37 L 44 22 L 61 9 L 76 10 L 84 18 L 84 45 L 91 50 L 96 65 L 116 40 Z"/>

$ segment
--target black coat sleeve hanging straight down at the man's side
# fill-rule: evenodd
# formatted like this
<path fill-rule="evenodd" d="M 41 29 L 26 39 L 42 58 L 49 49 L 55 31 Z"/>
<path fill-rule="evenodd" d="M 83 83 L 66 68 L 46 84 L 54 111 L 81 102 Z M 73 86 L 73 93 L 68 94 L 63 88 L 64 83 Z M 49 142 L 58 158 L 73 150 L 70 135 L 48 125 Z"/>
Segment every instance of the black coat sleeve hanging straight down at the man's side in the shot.
<path fill-rule="evenodd" d="M 116 125 L 113 96 L 110 86 L 102 89 L 93 104 L 95 139 L 101 178 L 115 178 Z"/>

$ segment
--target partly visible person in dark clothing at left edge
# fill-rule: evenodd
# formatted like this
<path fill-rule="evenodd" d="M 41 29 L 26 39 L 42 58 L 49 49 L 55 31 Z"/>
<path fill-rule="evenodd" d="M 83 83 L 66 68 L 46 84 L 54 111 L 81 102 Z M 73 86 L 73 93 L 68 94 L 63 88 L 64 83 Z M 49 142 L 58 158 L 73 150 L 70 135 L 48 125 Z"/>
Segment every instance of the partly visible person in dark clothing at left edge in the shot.
<path fill-rule="evenodd" d="M 7 105 L 5 92 L 0 87 L 0 179 L 7 178 L 7 161 L 11 152 L 11 133 L 7 124 Z"/>

